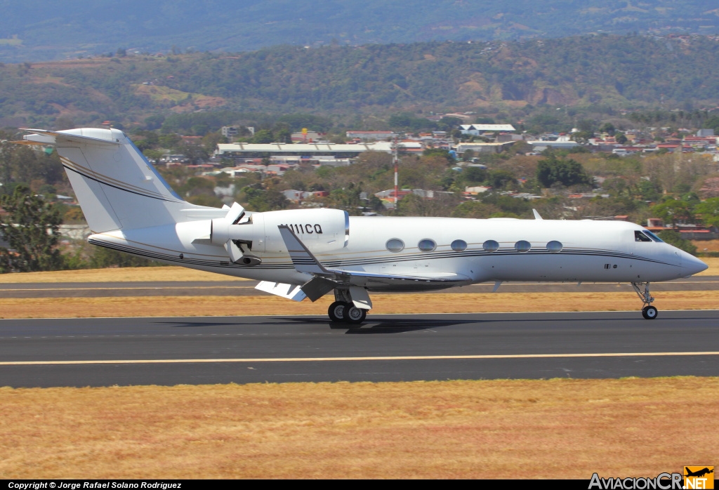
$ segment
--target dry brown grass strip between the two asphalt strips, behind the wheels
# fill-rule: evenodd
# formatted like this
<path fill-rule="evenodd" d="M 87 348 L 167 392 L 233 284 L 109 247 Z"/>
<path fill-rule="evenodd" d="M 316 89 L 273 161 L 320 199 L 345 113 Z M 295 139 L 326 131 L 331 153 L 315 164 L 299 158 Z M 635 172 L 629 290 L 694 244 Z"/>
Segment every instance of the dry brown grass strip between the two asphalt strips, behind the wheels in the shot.
<path fill-rule="evenodd" d="M 659 310 L 713 310 L 719 291 L 655 293 Z M 277 296 L 0 298 L 0 318 L 326 315 L 332 295 L 301 303 Z M 372 295 L 372 313 L 639 310 L 629 292 L 505 292 Z M 371 318 L 370 318 L 371 319 Z"/>

